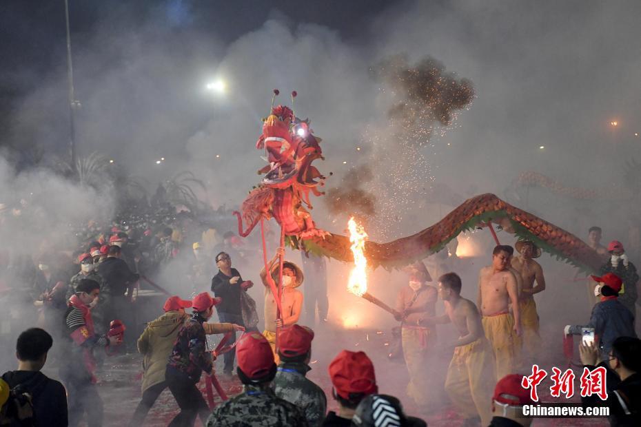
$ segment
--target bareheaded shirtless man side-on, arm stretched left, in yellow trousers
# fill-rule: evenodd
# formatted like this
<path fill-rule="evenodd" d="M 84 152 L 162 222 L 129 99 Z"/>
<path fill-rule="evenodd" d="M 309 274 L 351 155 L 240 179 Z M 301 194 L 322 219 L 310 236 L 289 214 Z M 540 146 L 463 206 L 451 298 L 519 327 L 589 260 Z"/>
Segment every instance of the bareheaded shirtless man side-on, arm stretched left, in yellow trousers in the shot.
<path fill-rule="evenodd" d="M 461 298 L 460 289 L 458 274 L 440 276 L 438 296 L 445 305 L 445 314 L 421 319 L 419 324 L 454 324 L 459 336 L 447 368 L 445 390 L 454 405 L 465 414 L 467 424 L 480 417 L 482 425 L 488 426 L 492 417 L 491 397 L 495 382 L 494 353 L 485 338 L 478 309 L 474 302 Z"/>

